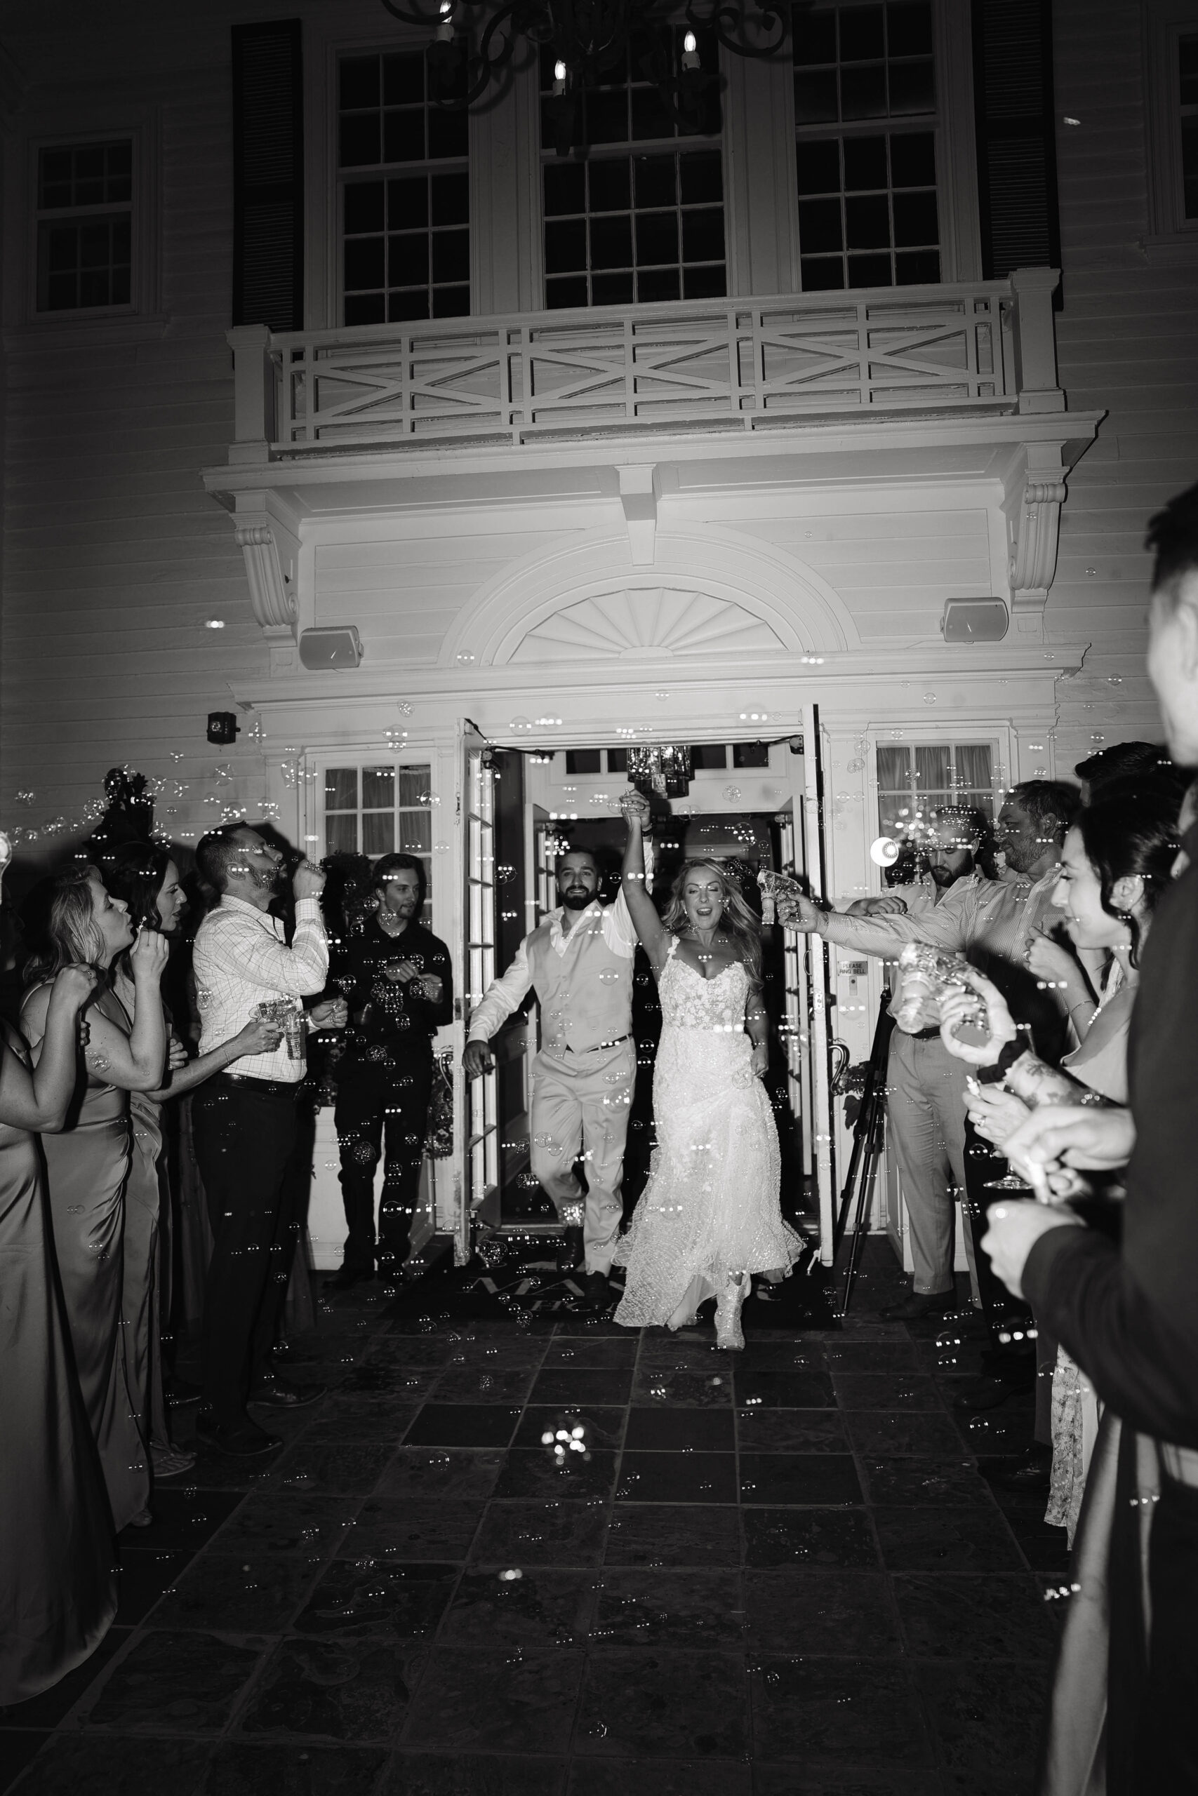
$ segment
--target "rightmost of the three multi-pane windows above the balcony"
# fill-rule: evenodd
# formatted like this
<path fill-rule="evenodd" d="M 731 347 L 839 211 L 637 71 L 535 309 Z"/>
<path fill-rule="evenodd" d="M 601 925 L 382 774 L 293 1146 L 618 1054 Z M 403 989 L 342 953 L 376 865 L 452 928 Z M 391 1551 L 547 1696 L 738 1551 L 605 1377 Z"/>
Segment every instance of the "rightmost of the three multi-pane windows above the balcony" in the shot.
<path fill-rule="evenodd" d="M 938 282 L 930 0 L 796 13 L 794 115 L 803 291 Z"/>

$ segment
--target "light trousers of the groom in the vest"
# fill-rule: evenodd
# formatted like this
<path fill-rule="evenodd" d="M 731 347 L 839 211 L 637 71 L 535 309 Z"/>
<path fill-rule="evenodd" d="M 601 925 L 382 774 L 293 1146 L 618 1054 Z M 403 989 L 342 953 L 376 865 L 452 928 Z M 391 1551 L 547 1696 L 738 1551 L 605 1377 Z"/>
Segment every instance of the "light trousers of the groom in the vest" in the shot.
<path fill-rule="evenodd" d="M 586 1270 L 611 1272 L 623 1202 L 623 1144 L 636 1081 L 630 1036 L 584 1054 L 542 1051 L 532 1063 L 532 1171 L 562 1227 L 582 1225 Z M 575 1171 L 582 1153 L 586 1191 Z"/>

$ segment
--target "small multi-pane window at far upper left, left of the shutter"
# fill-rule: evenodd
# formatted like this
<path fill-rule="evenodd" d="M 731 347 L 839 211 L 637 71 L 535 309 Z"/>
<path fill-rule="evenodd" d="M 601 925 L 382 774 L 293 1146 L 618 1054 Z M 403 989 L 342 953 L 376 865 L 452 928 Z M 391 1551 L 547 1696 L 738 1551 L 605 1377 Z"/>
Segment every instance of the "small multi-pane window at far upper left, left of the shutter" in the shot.
<path fill-rule="evenodd" d="M 129 305 L 133 142 L 38 151 L 38 311 Z"/>

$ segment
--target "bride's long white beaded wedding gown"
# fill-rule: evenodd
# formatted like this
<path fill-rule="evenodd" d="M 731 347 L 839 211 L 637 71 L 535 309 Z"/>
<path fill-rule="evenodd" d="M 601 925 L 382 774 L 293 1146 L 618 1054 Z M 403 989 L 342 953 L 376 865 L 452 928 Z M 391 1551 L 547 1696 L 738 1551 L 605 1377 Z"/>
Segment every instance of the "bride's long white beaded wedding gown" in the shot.
<path fill-rule="evenodd" d="M 774 1112 L 751 1067 L 749 975 L 736 964 L 704 979 L 675 950 L 677 938 L 657 981 L 657 1148 L 614 1255 L 629 1268 L 616 1322 L 632 1329 L 681 1327 L 729 1277 L 803 1252 L 781 1218 Z"/>

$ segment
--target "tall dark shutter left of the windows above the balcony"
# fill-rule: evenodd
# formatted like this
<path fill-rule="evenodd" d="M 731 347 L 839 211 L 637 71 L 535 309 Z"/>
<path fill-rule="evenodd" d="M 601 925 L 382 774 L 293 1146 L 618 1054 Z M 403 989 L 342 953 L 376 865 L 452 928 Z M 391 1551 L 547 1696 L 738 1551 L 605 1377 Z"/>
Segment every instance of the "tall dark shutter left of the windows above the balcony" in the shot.
<path fill-rule="evenodd" d="M 304 329 L 298 18 L 233 25 L 233 323 Z"/>

